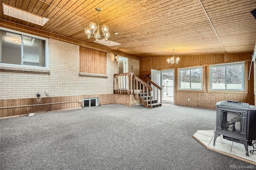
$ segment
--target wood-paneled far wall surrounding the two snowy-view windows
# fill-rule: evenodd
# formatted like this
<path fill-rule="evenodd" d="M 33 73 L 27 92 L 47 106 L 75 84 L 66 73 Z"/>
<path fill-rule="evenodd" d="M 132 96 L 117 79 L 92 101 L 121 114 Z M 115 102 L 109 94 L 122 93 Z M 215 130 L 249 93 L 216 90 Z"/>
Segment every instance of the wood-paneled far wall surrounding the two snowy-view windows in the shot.
<path fill-rule="evenodd" d="M 254 105 L 254 68 L 252 65 L 252 71 L 250 74 L 250 81 L 248 81 L 248 75 L 250 70 L 250 61 L 252 53 L 223 53 L 223 54 L 206 54 L 206 55 L 186 55 L 186 56 L 175 56 L 180 57 L 180 62 L 178 64 L 168 64 L 166 59 L 172 56 L 159 56 L 159 57 L 149 57 L 140 60 L 140 77 L 144 74 L 150 74 L 150 69 L 158 70 L 175 70 L 175 80 L 176 87 L 178 86 L 177 71 L 178 68 L 192 67 L 192 66 L 204 66 L 204 85 L 205 90 L 201 92 L 196 91 L 178 91 L 175 87 L 174 89 L 174 104 L 189 106 L 189 107 L 202 107 L 208 109 L 216 109 L 216 102 L 225 100 L 234 100 L 245 103 L 250 103 Z M 247 79 L 247 92 L 236 92 L 233 91 L 222 93 L 210 92 L 208 91 L 208 67 L 211 64 L 218 63 L 229 63 L 235 61 L 247 61 L 245 69 L 245 79 Z M 188 101 L 188 98 L 190 101 Z"/>

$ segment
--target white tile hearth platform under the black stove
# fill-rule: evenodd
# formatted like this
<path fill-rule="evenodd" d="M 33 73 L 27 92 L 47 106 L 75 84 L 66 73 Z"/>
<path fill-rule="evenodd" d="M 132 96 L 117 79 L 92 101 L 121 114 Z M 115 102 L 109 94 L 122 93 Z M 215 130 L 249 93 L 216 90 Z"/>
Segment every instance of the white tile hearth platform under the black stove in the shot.
<path fill-rule="evenodd" d="M 198 130 L 193 138 L 207 149 L 256 165 L 256 151 L 253 154 L 250 153 L 250 150 L 253 150 L 252 146 L 248 146 L 249 156 L 246 156 L 244 144 L 223 139 L 222 135 L 216 138 L 213 146 L 214 130 Z"/>

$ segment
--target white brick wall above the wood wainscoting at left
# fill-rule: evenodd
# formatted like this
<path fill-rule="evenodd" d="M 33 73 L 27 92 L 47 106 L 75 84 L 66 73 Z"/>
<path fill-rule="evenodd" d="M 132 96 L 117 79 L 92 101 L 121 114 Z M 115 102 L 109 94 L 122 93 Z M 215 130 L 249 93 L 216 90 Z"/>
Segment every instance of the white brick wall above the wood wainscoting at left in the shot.
<path fill-rule="evenodd" d="M 139 61 L 128 61 L 130 72 L 139 74 Z M 49 40 L 49 71 L 31 73 L 0 71 L 0 99 L 34 98 L 36 93 L 46 97 L 92 95 L 113 93 L 113 75 L 118 73 L 118 62 L 107 53 L 106 74 L 108 78 L 79 75 L 79 46 L 57 40 Z M 133 71 L 135 70 L 135 71 Z M 138 72 L 138 73 L 137 73 Z"/>

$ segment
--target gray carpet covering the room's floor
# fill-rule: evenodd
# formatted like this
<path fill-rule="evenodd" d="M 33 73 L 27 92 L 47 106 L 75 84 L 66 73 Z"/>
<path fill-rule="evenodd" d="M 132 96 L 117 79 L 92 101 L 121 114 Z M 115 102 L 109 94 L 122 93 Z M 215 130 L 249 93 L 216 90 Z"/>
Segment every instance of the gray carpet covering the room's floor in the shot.
<path fill-rule="evenodd" d="M 216 111 L 102 105 L 0 119 L 0 169 L 223 170 L 251 165 L 206 149 Z M 256 166 L 255 166 L 256 167 Z"/>

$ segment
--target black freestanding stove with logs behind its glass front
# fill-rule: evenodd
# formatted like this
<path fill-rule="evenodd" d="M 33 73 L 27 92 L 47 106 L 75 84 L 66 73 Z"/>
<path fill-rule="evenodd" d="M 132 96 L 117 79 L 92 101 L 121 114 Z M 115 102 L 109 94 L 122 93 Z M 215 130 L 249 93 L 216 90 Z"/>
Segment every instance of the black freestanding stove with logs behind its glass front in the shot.
<path fill-rule="evenodd" d="M 248 145 L 256 140 L 256 106 L 238 101 L 216 103 L 216 127 L 213 145 L 218 136 L 242 143 L 248 155 Z"/>

